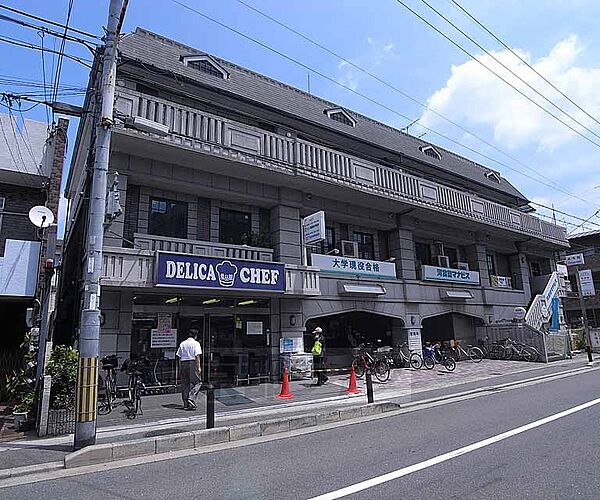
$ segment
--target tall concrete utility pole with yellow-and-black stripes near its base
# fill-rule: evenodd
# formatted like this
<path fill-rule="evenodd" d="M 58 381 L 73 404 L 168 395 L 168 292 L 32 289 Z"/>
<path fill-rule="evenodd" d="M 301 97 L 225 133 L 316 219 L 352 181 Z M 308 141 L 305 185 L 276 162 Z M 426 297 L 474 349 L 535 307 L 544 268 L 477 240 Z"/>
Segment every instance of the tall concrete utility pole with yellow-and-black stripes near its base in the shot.
<path fill-rule="evenodd" d="M 106 211 L 106 185 L 115 100 L 116 57 L 127 0 L 110 0 L 102 55 L 101 113 L 96 124 L 96 146 L 89 202 L 84 298 L 79 333 L 79 368 L 75 408 L 75 449 L 96 442 L 98 403 L 98 345 L 100 342 L 100 277 Z"/>

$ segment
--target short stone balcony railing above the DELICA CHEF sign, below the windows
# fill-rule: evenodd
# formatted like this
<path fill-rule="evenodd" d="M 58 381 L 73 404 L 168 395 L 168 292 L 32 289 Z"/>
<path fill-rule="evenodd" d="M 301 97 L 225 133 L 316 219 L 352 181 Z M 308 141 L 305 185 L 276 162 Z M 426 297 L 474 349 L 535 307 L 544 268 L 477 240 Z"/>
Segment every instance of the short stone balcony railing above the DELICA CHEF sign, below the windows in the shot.
<path fill-rule="evenodd" d="M 250 247 L 247 245 L 227 245 L 210 241 L 184 240 L 168 236 L 135 233 L 133 243 L 142 250 L 161 250 L 163 252 L 189 253 L 206 257 L 262 260 L 271 262 L 273 250 L 270 248 Z"/>

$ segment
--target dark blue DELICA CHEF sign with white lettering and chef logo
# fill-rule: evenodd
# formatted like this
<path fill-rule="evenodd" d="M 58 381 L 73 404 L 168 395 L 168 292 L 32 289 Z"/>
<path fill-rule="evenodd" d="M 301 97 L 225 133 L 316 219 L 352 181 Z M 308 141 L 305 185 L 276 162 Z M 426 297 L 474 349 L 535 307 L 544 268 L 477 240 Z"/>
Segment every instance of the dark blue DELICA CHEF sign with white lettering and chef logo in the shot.
<path fill-rule="evenodd" d="M 275 262 L 158 252 L 156 284 L 284 292 L 285 267 Z"/>

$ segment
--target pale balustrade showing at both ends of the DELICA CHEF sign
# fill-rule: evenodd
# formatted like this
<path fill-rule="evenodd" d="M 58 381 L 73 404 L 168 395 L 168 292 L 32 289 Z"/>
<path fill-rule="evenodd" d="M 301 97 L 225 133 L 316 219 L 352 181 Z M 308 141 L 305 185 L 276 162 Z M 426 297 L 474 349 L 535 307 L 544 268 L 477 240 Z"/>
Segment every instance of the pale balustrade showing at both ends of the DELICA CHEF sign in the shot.
<path fill-rule="evenodd" d="M 153 287 L 155 285 L 155 261 L 156 253 L 154 250 L 104 247 L 102 285 L 135 288 Z M 321 295 L 319 270 L 314 267 L 286 264 L 285 279 L 286 295 Z"/>

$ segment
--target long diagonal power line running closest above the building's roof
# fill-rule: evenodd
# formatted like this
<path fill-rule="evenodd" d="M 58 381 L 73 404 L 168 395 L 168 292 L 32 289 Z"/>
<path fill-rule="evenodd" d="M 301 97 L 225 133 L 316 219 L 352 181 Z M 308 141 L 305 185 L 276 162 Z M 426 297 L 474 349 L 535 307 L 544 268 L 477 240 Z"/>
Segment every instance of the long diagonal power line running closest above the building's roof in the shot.
<path fill-rule="evenodd" d="M 347 90 L 348 92 L 350 92 L 352 94 L 355 94 L 355 95 L 357 95 L 357 96 L 365 99 L 366 101 L 369 101 L 369 102 L 371 102 L 371 103 L 373 103 L 373 104 L 381 107 L 382 109 L 390 111 L 391 113 L 393 113 L 393 114 L 395 114 L 397 116 L 400 116 L 401 118 L 403 118 L 403 119 L 405 119 L 407 121 L 411 121 L 411 119 L 408 116 L 404 115 L 403 113 L 400 113 L 399 111 L 397 111 L 397 110 L 395 110 L 395 109 L 393 109 L 393 108 L 391 108 L 391 107 L 389 107 L 389 106 L 387 106 L 387 105 L 385 105 L 385 104 L 377 101 L 376 99 L 373 99 L 372 97 L 367 96 L 366 94 L 363 94 L 362 92 L 360 92 L 360 91 L 358 91 L 356 89 L 353 89 L 353 88 L 349 87 L 348 85 L 344 85 L 343 83 L 338 82 L 336 79 L 334 79 L 334 78 L 332 78 L 330 76 L 325 75 L 324 73 L 322 73 L 322 72 L 320 72 L 320 71 L 318 71 L 318 70 L 316 70 L 316 69 L 308 66 L 307 64 L 303 63 L 302 61 L 299 61 L 298 59 L 295 59 L 295 58 L 293 58 L 291 56 L 288 56 L 287 54 L 281 52 L 280 50 L 275 49 L 275 48 L 267 45 L 266 43 L 261 42 L 260 40 L 257 40 L 256 38 L 253 38 L 252 36 L 250 36 L 250 35 L 242 32 L 242 31 L 239 31 L 239 30 L 237 30 L 237 29 L 235 29 L 235 28 L 233 28 L 233 27 L 231 27 L 231 26 L 229 26 L 229 25 L 227 25 L 227 24 L 225 24 L 225 23 L 223 23 L 223 22 L 221 22 L 221 21 L 219 21 L 217 19 L 214 19 L 214 18 L 210 17 L 209 15 L 207 15 L 207 14 L 205 14 L 205 13 L 203 13 L 203 12 L 201 12 L 201 11 L 193 8 L 193 7 L 190 7 L 189 5 L 184 4 L 180 0 L 171 0 L 171 2 L 177 4 L 177 5 L 179 5 L 179 6 L 183 7 L 183 8 L 191 11 L 191 12 L 194 12 L 198 16 L 200 16 L 200 17 L 202 17 L 202 18 L 204 18 L 204 19 L 206 19 L 206 20 L 208 20 L 208 21 L 210 21 L 210 22 L 212 22 L 214 24 L 217 24 L 218 26 L 221 26 L 222 28 L 224 28 L 224 29 L 226 29 L 228 31 L 231 31 L 232 33 L 235 33 L 235 34 L 241 36 L 242 38 L 245 38 L 245 39 L 251 41 L 252 43 L 255 43 L 256 45 L 259 45 L 260 47 L 263 47 L 264 49 L 266 49 L 266 50 L 268 50 L 270 52 L 273 52 L 274 54 L 277 54 L 278 56 L 280 56 L 280 57 L 282 57 L 282 58 L 284 58 L 284 59 L 286 59 L 286 60 L 288 60 L 288 61 L 290 61 L 290 62 L 292 62 L 292 63 L 294 63 L 296 65 L 298 65 L 298 66 L 300 66 L 301 68 L 304 68 L 304 69 L 306 69 L 308 71 L 311 71 L 312 73 L 314 73 L 315 75 L 320 76 L 324 80 L 327 80 L 327 81 L 333 83 L 334 85 L 337 85 L 338 87 L 341 87 L 341 88 Z M 432 128 L 426 127 L 424 125 L 421 125 L 421 127 L 424 128 L 425 130 L 427 130 L 428 132 L 431 132 L 431 133 L 437 135 L 438 137 L 441 137 L 442 139 L 445 139 L 445 140 L 447 140 L 447 141 L 449 141 L 449 142 L 451 142 L 451 143 L 453 143 L 453 144 L 455 144 L 455 145 L 457 145 L 457 146 L 459 146 L 461 148 L 464 148 L 467 151 L 470 151 L 470 152 L 472 152 L 472 153 L 474 153 L 474 154 L 476 154 L 476 155 L 478 155 L 478 156 L 480 156 L 482 158 L 485 158 L 488 161 L 491 161 L 491 162 L 494 162 L 494 163 L 496 163 L 498 165 L 501 165 L 501 166 L 507 168 L 508 170 L 511 170 L 511 171 L 513 171 L 513 172 L 515 172 L 515 173 L 517 173 L 517 174 L 519 174 L 519 175 L 521 175 L 523 177 L 526 177 L 526 178 L 528 178 L 528 179 L 530 179 L 530 180 L 532 180 L 534 182 L 537 182 L 539 184 L 542 184 L 542 185 L 544 185 L 546 187 L 549 187 L 549 188 L 552 188 L 554 190 L 560 191 L 560 192 L 562 192 L 564 194 L 568 194 L 570 196 L 574 196 L 575 198 L 578 198 L 578 199 L 580 199 L 581 201 L 583 201 L 585 203 L 590 203 L 588 200 L 585 200 L 583 198 L 579 198 L 578 196 L 573 195 L 572 193 L 570 193 L 569 191 L 567 191 L 566 189 L 564 189 L 564 188 L 562 188 L 560 186 L 557 187 L 555 185 L 543 182 L 543 181 L 541 181 L 541 180 L 539 180 L 539 179 L 537 179 L 537 178 L 535 178 L 535 177 L 533 177 L 531 175 L 526 174 L 525 172 L 522 172 L 521 170 L 517 170 L 516 168 L 511 167 L 510 165 L 508 165 L 506 163 L 503 163 L 503 162 L 501 162 L 501 161 L 499 161 L 499 160 L 497 160 L 495 158 L 492 158 L 491 156 L 488 156 L 488 155 L 486 155 L 486 154 L 484 154 L 484 153 L 482 153 L 482 152 L 480 152 L 480 151 L 478 151 L 478 150 L 476 150 L 474 148 L 471 148 L 470 146 L 462 144 L 459 141 L 457 141 L 455 139 L 452 139 L 451 137 L 447 137 L 444 134 L 442 134 L 440 132 L 437 132 L 436 130 L 434 130 Z"/>

